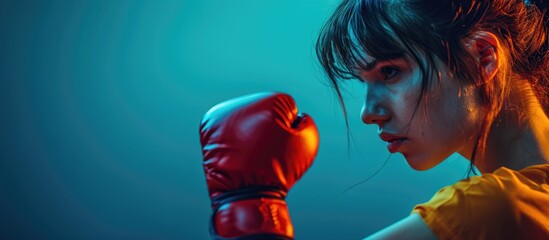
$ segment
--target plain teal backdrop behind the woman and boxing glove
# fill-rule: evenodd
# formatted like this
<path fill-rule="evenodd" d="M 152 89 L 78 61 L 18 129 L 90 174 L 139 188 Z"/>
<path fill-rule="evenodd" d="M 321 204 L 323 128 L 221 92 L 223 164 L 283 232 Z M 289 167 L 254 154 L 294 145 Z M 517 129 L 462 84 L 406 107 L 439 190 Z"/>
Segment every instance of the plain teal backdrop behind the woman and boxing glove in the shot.
<path fill-rule="evenodd" d="M 334 0 L 0 2 L 0 238 L 208 239 L 198 124 L 216 103 L 293 95 L 320 129 L 290 192 L 296 239 L 360 239 L 464 177 L 426 172 L 337 98 L 314 55 Z"/>

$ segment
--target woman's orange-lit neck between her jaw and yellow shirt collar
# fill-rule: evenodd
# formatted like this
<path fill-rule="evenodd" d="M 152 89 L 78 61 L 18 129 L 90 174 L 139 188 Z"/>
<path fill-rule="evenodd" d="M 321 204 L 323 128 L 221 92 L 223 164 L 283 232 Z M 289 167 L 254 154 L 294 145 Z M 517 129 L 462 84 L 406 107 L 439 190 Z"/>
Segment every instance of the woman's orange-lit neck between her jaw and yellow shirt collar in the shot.
<path fill-rule="evenodd" d="M 549 163 L 549 118 L 531 85 L 526 80 L 513 82 L 508 100 L 490 128 L 484 159 L 475 157 L 475 166 L 482 173 Z"/>

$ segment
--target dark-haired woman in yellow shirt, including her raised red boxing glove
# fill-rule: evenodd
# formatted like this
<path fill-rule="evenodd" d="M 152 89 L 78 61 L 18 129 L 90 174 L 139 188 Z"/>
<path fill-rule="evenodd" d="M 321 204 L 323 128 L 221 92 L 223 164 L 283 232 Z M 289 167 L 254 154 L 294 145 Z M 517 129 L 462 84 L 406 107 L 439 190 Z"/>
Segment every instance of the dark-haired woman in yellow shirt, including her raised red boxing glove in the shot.
<path fill-rule="evenodd" d="M 317 53 L 344 111 L 340 81 L 361 81 L 362 120 L 390 152 L 416 170 L 458 152 L 482 173 L 372 239 L 549 239 L 549 37 L 538 5 L 344 0 L 328 20 Z M 212 236 L 292 239 L 284 197 L 316 154 L 312 119 L 288 95 L 255 94 L 212 108 L 200 136 Z"/>

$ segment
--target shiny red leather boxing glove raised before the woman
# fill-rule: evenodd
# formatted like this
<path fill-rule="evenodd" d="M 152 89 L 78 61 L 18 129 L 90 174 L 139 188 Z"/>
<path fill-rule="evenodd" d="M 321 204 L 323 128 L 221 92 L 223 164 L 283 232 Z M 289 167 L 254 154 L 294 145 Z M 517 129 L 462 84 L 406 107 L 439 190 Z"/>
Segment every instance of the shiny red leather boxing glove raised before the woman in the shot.
<path fill-rule="evenodd" d="M 284 198 L 318 149 L 313 119 L 282 93 L 258 93 L 211 108 L 200 143 L 215 239 L 293 239 Z"/>

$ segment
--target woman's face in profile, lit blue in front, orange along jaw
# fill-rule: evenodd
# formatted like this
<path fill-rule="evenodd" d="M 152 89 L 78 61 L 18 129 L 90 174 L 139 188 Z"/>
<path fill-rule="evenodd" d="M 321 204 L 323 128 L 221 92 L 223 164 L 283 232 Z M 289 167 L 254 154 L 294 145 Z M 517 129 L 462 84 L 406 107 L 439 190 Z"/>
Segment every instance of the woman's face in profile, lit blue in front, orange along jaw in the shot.
<path fill-rule="evenodd" d="M 470 157 L 482 122 L 474 86 L 460 86 L 438 61 L 440 81 L 434 74 L 418 105 L 422 76 L 417 63 L 399 58 L 370 65 L 359 72 L 366 85 L 361 118 L 379 125 L 390 152 L 402 153 L 416 170 L 430 169 L 454 152 Z"/>

